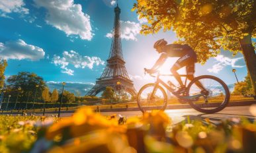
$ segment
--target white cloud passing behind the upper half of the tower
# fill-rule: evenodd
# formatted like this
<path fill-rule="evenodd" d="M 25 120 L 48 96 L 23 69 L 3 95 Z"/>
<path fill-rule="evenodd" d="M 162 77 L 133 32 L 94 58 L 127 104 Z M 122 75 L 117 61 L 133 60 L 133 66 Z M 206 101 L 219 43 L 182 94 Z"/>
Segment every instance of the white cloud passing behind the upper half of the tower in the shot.
<path fill-rule="evenodd" d="M 121 38 L 124 40 L 134 40 L 137 41 L 136 36 L 140 33 L 141 26 L 136 22 L 131 21 L 120 21 L 121 26 Z M 107 38 L 112 38 L 112 32 L 106 34 Z"/>

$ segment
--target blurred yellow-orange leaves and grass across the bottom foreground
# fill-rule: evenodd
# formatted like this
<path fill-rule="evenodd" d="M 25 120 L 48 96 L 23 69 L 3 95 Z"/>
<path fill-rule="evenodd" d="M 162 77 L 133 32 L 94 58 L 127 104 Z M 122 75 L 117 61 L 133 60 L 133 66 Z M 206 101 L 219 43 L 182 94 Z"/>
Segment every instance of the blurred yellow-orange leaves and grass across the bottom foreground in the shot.
<path fill-rule="evenodd" d="M 0 152 L 256 152 L 256 123 L 177 125 L 162 111 L 126 119 L 81 108 L 69 118 L 0 117 Z"/>

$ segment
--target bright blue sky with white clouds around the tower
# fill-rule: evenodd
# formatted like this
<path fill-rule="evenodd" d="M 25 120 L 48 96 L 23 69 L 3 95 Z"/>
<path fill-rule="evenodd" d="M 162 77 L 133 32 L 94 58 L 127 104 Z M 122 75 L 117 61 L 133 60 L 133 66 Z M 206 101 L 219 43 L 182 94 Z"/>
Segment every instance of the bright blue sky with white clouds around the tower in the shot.
<path fill-rule="evenodd" d="M 140 35 L 145 20 L 138 20 L 131 11 L 134 3 L 118 1 L 126 69 L 138 90 L 152 81 L 144 76 L 143 68 L 150 68 L 159 57 L 153 43 L 161 38 L 172 43 L 177 38 L 174 32 Z M 113 0 L 1 0 L 0 57 L 8 61 L 5 75 L 33 72 L 51 89 L 68 82 L 65 88 L 85 94 L 106 66 L 114 7 Z M 162 70 L 168 73 L 175 60 L 168 59 Z M 237 69 L 239 80 L 247 75 L 241 54 L 233 57 L 222 51 L 205 65 L 196 64 L 196 75 L 215 75 L 231 84 L 235 82 L 232 69 Z"/>

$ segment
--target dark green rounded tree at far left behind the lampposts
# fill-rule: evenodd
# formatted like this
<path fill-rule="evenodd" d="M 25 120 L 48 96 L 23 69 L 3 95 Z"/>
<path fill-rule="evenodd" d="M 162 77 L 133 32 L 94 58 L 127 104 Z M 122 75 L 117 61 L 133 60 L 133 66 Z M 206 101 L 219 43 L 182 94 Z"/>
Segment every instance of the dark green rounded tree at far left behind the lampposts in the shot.
<path fill-rule="evenodd" d="M 46 86 L 42 77 L 29 72 L 19 72 L 18 75 L 12 75 L 7 78 L 7 82 L 7 87 L 11 89 L 10 92 L 13 92 L 13 94 L 17 93 L 18 88 L 21 88 L 21 98 L 19 98 L 21 102 L 25 102 L 28 99 L 28 96 L 30 96 L 30 93 L 36 90 L 36 85 L 39 85 L 37 92 L 38 96 L 42 95 L 42 90 L 44 90 L 44 87 Z"/>

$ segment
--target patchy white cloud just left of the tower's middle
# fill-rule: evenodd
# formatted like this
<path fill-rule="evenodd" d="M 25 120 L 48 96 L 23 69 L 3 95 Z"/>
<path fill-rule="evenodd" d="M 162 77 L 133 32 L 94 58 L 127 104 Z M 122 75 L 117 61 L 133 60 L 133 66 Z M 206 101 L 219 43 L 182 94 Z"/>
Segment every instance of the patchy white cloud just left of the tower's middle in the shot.
<path fill-rule="evenodd" d="M 67 65 L 73 65 L 75 68 L 82 68 L 88 67 L 89 69 L 93 69 L 94 65 L 104 65 L 104 61 L 102 61 L 99 57 L 89 57 L 89 56 L 82 56 L 75 51 L 64 51 L 63 57 L 58 55 L 54 55 L 52 58 L 52 63 L 55 65 L 60 65 L 63 69 L 62 73 L 67 73 L 68 75 L 73 75 L 74 71 L 71 69 L 67 69 Z"/>

